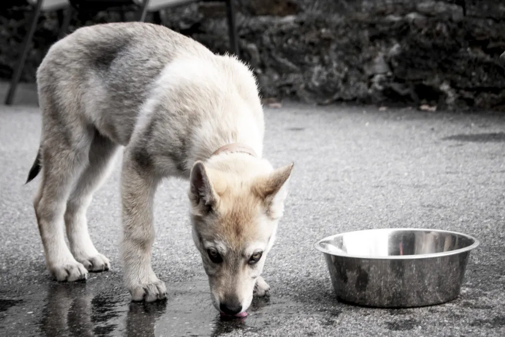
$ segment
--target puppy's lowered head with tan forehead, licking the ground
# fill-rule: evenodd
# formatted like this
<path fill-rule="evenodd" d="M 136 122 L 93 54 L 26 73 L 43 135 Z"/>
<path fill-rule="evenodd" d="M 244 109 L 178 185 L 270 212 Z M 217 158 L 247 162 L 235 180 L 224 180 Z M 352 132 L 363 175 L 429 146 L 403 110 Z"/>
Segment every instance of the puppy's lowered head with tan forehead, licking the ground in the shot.
<path fill-rule="evenodd" d="M 275 240 L 293 164 L 257 174 L 237 174 L 196 162 L 189 199 L 193 240 L 209 276 L 216 309 L 245 311 Z"/>

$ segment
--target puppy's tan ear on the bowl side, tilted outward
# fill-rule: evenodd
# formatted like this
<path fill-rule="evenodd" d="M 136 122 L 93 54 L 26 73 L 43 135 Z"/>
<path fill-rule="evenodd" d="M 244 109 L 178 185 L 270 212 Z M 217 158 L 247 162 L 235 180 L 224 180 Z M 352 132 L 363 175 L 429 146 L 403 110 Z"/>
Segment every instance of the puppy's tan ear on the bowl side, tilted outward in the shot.
<path fill-rule="evenodd" d="M 266 213 L 272 219 L 278 219 L 284 211 L 288 181 L 294 163 L 274 170 L 270 175 L 258 179 L 255 184 L 257 195 L 263 200 Z"/>

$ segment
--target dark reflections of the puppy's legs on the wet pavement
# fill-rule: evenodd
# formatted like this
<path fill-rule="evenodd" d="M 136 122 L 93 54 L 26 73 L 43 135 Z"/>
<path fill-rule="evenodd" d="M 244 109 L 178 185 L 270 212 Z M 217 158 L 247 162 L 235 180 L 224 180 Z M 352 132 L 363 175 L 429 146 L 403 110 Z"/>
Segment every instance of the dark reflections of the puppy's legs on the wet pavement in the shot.
<path fill-rule="evenodd" d="M 165 308 L 165 301 L 130 303 L 126 296 L 94 295 L 83 283 L 52 283 L 40 325 L 47 336 L 108 335 L 123 329 L 127 336 L 154 336 L 155 323 Z"/>

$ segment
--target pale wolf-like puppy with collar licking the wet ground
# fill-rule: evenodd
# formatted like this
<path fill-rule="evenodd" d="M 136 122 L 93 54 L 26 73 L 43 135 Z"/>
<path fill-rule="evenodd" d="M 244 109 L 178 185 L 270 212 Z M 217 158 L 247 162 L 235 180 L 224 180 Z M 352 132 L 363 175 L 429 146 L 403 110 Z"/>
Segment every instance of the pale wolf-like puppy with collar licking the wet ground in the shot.
<path fill-rule="evenodd" d="M 33 207 L 56 280 L 110 268 L 86 210 L 121 148 L 120 252 L 132 301 L 166 299 L 151 246 L 153 200 L 168 177 L 189 182 L 192 239 L 216 309 L 241 315 L 253 294 L 267 294 L 261 273 L 294 163 L 262 158 L 264 112 L 245 63 L 160 25 L 96 24 L 54 43 L 36 81 L 42 132 L 27 183 L 41 172 Z"/>

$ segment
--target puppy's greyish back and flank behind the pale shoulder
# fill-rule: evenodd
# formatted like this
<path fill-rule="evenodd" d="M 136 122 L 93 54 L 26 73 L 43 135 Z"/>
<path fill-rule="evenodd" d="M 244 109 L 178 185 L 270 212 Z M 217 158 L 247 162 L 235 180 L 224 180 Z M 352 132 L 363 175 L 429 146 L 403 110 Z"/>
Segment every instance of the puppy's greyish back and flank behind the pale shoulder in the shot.
<path fill-rule="evenodd" d="M 82 113 L 126 145 L 136 114 L 162 69 L 175 58 L 212 57 L 203 45 L 165 27 L 112 23 L 77 29 L 55 43 L 37 70 L 43 105 Z M 73 118 L 70 116 L 70 118 Z"/>

